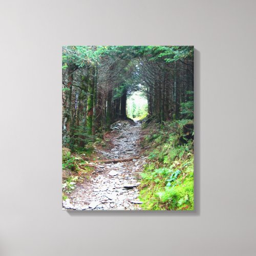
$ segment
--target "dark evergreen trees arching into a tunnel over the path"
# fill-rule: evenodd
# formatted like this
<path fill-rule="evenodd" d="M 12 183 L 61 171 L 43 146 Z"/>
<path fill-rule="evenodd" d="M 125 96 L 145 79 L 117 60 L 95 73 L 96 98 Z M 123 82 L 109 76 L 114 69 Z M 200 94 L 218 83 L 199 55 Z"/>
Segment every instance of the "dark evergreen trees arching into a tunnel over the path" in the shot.
<path fill-rule="evenodd" d="M 148 118 L 194 114 L 194 47 L 62 47 L 62 142 L 84 147 L 92 136 L 126 119 L 126 102 L 140 91 Z"/>

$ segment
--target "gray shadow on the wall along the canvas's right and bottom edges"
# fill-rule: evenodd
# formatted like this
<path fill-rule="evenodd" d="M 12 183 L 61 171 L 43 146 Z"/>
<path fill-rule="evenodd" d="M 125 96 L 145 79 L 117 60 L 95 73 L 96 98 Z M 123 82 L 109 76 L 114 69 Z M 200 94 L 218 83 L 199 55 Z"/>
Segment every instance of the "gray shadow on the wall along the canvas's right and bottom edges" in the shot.
<path fill-rule="evenodd" d="M 195 136 L 194 136 L 194 145 L 195 145 L 195 173 L 194 173 L 194 196 L 195 196 L 195 210 L 186 211 L 186 210 L 178 210 L 178 211 L 167 211 L 167 210 L 135 210 L 135 211 L 127 211 L 127 210 L 66 210 L 67 214 L 71 217 L 85 217 L 85 216 L 115 216 L 115 217 L 123 217 L 123 216 L 200 216 L 200 52 L 195 49 L 194 50 L 194 95 L 195 95 Z"/>

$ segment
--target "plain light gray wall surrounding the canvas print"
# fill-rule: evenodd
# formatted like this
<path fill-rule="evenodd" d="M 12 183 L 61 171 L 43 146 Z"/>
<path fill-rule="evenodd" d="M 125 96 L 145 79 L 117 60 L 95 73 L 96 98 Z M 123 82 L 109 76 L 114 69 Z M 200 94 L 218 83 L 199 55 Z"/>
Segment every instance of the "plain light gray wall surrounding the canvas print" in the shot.
<path fill-rule="evenodd" d="M 0 254 L 255 255 L 255 1 L 2 1 Z M 194 45 L 196 211 L 61 210 L 61 46 Z"/>

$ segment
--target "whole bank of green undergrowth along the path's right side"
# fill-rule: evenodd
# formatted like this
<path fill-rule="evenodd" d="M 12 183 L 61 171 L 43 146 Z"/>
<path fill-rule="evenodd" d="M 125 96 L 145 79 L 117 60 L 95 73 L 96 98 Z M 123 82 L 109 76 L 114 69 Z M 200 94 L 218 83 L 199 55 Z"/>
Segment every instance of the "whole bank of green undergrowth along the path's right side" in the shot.
<path fill-rule="evenodd" d="M 150 151 L 141 174 L 143 209 L 194 209 L 194 143 L 183 133 L 188 123 L 191 120 L 166 122 L 163 129 L 154 128 L 145 136 L 144 146 L 150 145 Z"/>

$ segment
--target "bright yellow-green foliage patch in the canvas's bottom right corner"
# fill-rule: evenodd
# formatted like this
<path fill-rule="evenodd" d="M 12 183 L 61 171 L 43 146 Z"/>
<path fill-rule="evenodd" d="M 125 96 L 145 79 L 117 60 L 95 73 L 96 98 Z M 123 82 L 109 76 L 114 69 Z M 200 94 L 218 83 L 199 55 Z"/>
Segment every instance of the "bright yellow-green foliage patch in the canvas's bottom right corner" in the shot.
<path fill-rule="evenodd" d="M 194 209 L 194 158 L 181 161 L 179 169 L 143 172 L 140 200 L 146 210 Z"/>

